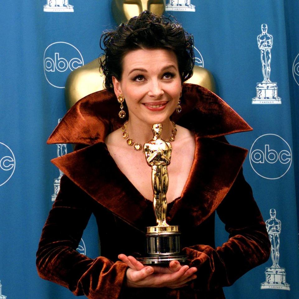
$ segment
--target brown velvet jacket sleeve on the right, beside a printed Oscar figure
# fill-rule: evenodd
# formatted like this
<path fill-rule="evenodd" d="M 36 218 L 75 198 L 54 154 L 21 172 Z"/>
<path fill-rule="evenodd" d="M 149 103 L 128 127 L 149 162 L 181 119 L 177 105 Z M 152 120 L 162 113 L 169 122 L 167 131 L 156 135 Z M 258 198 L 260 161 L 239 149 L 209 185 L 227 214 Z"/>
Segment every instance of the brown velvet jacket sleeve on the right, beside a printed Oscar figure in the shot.
<path fill-rule="evenodd" d="M 183 249 L 190 266 L 198 269 L 193 287 L 202 291 L 232 285 L 270 255 L 266 226 L 242 169 L 216 211 L 229 233 L 227 242 L 216 249 L 208 245 Z"/>

